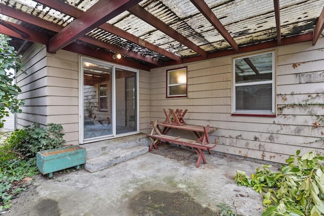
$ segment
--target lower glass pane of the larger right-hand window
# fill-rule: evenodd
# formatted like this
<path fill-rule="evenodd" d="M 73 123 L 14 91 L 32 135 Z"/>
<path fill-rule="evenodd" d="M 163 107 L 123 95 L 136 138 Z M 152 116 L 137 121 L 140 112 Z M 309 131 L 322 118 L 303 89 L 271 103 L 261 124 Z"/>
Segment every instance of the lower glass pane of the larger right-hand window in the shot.
<path fill-rule="evenodd" d="M 272 84 L 235 88 L 236 111 L 272 111 Z"/>

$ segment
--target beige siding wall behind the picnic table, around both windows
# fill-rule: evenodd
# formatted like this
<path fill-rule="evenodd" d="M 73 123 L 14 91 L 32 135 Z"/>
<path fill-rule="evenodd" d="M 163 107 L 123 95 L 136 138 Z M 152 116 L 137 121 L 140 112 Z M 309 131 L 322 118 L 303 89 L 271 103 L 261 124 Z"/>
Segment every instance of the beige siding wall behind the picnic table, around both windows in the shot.
<path fill-rule="evenodd" d="M 275 50 L 276 117 L 231 114 L 232 64 L 238 56 L 233 55 L 152 69 L 150 120 L 163 121 L 163 108 L 188 109 L 186 123 L 218 127 L 210 138 L 217 143 L 214 150 L 224 154 L 285 162 L 298 149 L 301 154 L 313 149 L 322 152 L 324 38 L 319 38 L 315 46 L 307 41 Z M 188 97 L 166 98 L 166 70 L 181 66 L 188 67 Z"/>

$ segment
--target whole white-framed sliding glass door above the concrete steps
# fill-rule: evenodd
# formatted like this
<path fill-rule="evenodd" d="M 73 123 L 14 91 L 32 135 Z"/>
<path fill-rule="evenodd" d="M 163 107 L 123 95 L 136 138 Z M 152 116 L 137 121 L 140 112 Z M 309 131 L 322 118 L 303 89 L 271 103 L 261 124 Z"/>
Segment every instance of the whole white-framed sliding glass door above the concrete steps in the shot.
<path fill-rule="evenodd" d="M 80 143 L 138 133 L 138 71 L 83 57 L 80 62 Z"/>

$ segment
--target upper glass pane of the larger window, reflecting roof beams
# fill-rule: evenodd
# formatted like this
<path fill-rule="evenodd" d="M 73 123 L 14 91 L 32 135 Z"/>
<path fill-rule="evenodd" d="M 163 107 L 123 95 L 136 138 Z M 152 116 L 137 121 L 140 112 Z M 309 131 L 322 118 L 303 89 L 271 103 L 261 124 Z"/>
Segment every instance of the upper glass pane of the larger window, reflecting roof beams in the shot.
<path fill-rule="evenodd" d="M 235 59 L 235 83 L 272 80 L 272 53 Z"/>

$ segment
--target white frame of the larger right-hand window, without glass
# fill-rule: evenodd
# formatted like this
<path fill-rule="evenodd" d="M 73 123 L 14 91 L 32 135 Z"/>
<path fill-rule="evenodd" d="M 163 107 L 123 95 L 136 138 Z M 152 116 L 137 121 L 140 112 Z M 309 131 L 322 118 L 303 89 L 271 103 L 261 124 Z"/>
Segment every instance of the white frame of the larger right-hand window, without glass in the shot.
<path fill-rule="evenodd" d="M 237 59 L 244 59 L 253 56 L 260 56 L 265 54 L 272 54 L 272 80 L 266 81 L 257 81 L 257 82 L 245 82 L 245 83 L 235 83 L 235 60 Z M 233 58 L 233 101 L 232 101 L 232 114 L 242 114 L 242 115 L 275 115 L 276 114 L 276 85 L 275 85 L 275 77 L 276 77 L 276 52 L 275 51 L 268 51 L 263 53 L 252 54 L 248 56 L 240 56 Z M 271 111 L 263 111 L 263 110 L 236 110 L 236 87 L 248 86 L 248 85 L 260 85 L 260 84 L 272 84 L 272 106 Z"/>

